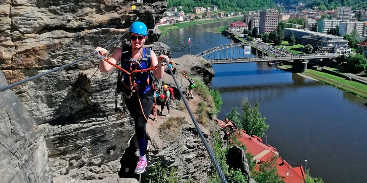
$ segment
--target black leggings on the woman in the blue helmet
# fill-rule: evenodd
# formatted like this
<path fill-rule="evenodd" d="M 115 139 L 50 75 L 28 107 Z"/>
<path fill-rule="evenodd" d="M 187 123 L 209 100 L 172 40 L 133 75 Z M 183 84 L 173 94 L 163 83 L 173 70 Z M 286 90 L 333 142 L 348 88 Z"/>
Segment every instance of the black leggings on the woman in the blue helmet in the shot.
<path fill-rule="evenodd" d="M 149 92 L 143 96 L 139 95 L 140 102 L 142 103 L 142 107 L 144 110 L 145 117 L 148 119 L 150 112 L 152 111 L 154 98 L 152 94 Z M 147 126 L 147 120 L 143 116 L 143 112 L 140 108 L 138 96 L 136 93 L 131 96 L 130 99 L 125 98 L 126 107 L 130 112 L 130 115 L 133 117 L 135 122 L 135 133 L 138 139 L 143 139 L 147 136 L 147 132 L 145 127 Z M 147 138 L 145 138 L 147 140 Z"/>

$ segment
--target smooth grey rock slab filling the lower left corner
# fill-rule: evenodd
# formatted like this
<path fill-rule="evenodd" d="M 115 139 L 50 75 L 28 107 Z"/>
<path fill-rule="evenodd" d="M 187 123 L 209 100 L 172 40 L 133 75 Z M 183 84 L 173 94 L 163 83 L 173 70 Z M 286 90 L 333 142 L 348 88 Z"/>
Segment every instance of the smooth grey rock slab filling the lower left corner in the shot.
<path fill-rule="evenodd" d="M 52 182 L 43 135 L 11 90 L 0 92 L 0 121 L 1 182 Z"/>

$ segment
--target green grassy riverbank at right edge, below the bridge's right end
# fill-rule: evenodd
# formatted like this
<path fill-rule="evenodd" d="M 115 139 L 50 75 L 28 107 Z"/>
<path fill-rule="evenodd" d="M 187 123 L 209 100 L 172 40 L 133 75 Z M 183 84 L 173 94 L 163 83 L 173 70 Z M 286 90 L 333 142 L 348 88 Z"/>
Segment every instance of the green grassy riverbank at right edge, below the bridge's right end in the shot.
<path fill-rule="evenodd" d="M 284 70 L 289 70 L 292 68 L 291 65 L 282 65 L 278 67 Z M 298 73 L 298 74 L 305 78 L 318 80 L 322 83 L 325 83 L 327 85 L 343 90 L 344 92 L 348 92 L 355 96 L 367 99 L 367 85 L 365 84 L 347 80 L 342 77 L 338 77 L 332 74 L 328 74 L 325 72 L 320 72 L 318 70 L 312 70 L 312 69 L 308 69 L 307 71 L 303 73 Z"/>

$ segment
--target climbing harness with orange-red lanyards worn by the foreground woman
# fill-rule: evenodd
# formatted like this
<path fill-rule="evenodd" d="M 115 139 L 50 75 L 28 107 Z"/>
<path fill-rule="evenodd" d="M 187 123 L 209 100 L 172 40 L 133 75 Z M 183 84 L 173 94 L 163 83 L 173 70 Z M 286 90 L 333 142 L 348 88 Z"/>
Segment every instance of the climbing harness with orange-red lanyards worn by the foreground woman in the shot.
<path fill-rule="evenodd" d="M 116 65 L 116 64 L 114 64 L 114 63 L 112 63 L 112 62 L 110 62 L 110 61 L 108 61 L 107 60 L 107 58 L 102 54 L 102 52 L 101 51 L 99 51 L 99 54 L 96 54 L 96 56 L 100 59 L 100 60 L 102 60 L 102 61 L 105 61 L 105 62 L 107 62 L 108 64 L 110 64 L 110 65 L 112 65 L 112 66 L 114 66 L 114 67 L 116 67 L 116 68 L 118 68 L 118 69 L 120 69 L 121 71 L 123 71 L 125 74 L 128 74 L 128 76 L 129 76 L 129 85 L 127 85 L 126 84 L 126 82 L 124 81 L 123 83 L 124 83 L 124 85 L 125 85 L 125 87 L 127 87 L 129 90 L 131 90 L 131 93 L 130 93 L 130 95 L 128 96 L 128 95 L 126 95 L 126 92 L 124 92 L 124 91 L 117 91 L 116 92 L 116 94 L 115 94 L 115 97 L 117 97 L 117 93 L 118 92 L 120 92 L 121 93 L 121 95 L 125 95 L 125 97 L 126 97 L 126 99 L 130 99 L 132 96 L 133 96 L 133 93 L 136 93 L 137 94 L 137 96 L 138 96 L 138 101 L 139 101 L 139 105 L 140 105 L 140 109 L 142 110 L 142 111 L 144 111 L 143 110 L 143 106 L 142 106 L 142 103 L 141 103 L 141 101 L 140 101 L 140 97 L 139 97 L 139 92 L 138 92 L 138 89 L 140 89 L 141 87 L 140 87 L 140 85 L 136 82 L 137 80 L 136 80 L 136 77 L 132 77 L 132 75 L 134 76 L 134 74 L 135 73 L 143 73 L 143 72 L 149 72 L 149 71 L 151 71 L 151 70 L 154 70 L 154 69 L 157 69 L 158 67 L 161 67 L 161 66 L 165 66 L 165 60 L 167 60 L 167 59 L 162 59 L 161 61 L 160 61 L 160 63 L 158 63 L 157 65 L 155 65 L 154 67 L 150 67 L 150 68 L 147 68 L 147 69 L 136 69 L 136 70 L 134 70 L 134 71 L 131 71 L 131 72 L 128 72 L 127 70 L 125 70 L 124 68 L 122 68 L 122 67 L 120 67 L 120 66 L 118 66 L 118 65 Z M 141 59 L 128 59 L 130 62 L 137 62 L 137 63 L 139 63 L 139 65 L 141 65 L 141 63 L 138 61 L 138 60 L 143 60 L 143 58 L 141 58 Z M 168 61 L 168 60 L 167 60 Z M 136 67 L 137 68 L 137 67 Z M 120 77 L 118 77 L 118 78 L 120 78 Z M 151 80 L 151 79 L 148 79 L 148 80 Z M 148 81 L 149 82 L 149 81 Z M 119 84 L 120 82 L 119 81 L 117 81 L 117 84 Z M 118 89 L 118 88 L 117 88 Z M 125 104 L 125 98 L 124 97 L 122 97 L 123 98 L 123 105 Z M 157 106 L 157 99 L 156 99 L 156 97 L 154 97 L 154 99 L 155 99 L 155 105 Z M 120 112 L 120 113 L 122 113 L 123 111 L 121 111 L 121 110 L 119 110 L 118 108 L 117 108 L 117 101 L 115 102 L 115 112 Z M 124 107 L 124 110 L 125 110 L 125 107 Z M 125 110 L 126 111 L 126 110 Z M 149 120 L 148 120 L 148 118 L 145 116 L 145 114 L 144 114 L 144 112 L 143 112 L 143 116 L 144 116 L 144 118 L 145 118 L 145 120 L 148 122 L 148 123 L 150 123 L 150 124 L 153 124 L 154 122 L 155 122 L 155 119 L 157 118 L 156 117 L 156 115 L 157 115 L 157 107 L 155 108 L 155 115 L 154 115 L 154 120 L 153 120 L 153 122 L 150 122 Z"/>

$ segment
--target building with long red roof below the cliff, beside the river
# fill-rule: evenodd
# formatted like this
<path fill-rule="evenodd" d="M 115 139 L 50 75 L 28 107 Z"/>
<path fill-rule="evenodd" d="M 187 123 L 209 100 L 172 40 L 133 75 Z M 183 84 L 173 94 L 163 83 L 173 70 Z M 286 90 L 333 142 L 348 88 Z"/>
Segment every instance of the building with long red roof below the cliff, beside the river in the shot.
<path fill-rule="evenodd" d="M 218 120 L 218 123 L 223 124 L 224 122 Z M 285 183 L 304 182 L 305 173 L 302 166 L 292 167 L 287 161 L 279 156 L 279 152 L 276 148 L 269 144 L 264 144 L 260 137 L 249 135 L 244 130 L 239 130 L 239 133 L 240 137 L 238 140 L 242 145 L 246 146 L 246 152 L 254 156 L 253 159 L 257 166 L 275 157 L 277 173 Z"/>

